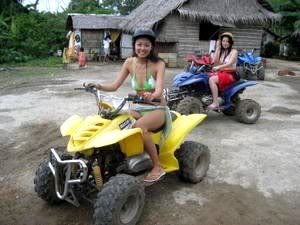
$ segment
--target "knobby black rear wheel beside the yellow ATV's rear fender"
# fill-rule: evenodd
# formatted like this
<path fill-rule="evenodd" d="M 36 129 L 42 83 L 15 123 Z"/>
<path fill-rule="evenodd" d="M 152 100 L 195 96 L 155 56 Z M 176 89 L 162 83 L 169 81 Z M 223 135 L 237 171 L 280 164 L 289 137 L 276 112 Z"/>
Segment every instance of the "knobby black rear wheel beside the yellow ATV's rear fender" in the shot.
<path fill-rule="evenodd" d="M 191 183 L 200 182 L 209 168 L 210 152 L 207 146 L 186 141 L 176 152 L 179 161 L 179 177 Z"/>

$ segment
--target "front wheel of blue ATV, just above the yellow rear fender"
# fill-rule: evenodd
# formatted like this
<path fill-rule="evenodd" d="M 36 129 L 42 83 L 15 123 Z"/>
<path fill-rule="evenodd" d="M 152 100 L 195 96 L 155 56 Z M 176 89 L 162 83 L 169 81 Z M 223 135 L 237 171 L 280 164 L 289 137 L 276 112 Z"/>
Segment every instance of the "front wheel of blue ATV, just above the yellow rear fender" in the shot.
<path fill-rule="evenodd" d="M 183 115 L 205 113 L 202 102 L 195 97 L 185 97 L 176 106 L 176 111 Z"/>

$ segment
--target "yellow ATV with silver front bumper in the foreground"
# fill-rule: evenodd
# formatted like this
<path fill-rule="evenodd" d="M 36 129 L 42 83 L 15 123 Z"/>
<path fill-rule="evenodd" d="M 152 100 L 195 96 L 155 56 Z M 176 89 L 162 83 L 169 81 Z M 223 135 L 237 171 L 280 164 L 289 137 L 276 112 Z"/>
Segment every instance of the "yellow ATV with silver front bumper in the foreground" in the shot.
<path fill-rule="evenodd" d="M 135 119 L 128 110 L 144 100 L 137 95 L 120 99 L 93 88 L 79 89 L 96 96 L 98 115 L 85 119 L 74 115 L 62 124 L 61 134 L 70 136 L 66 153 L 51 149 L 50 158 L 36 170 L 35 191 L 50 204 L 65 200 L 79 206 L 80 200 L 88 200 L 94 205 L 95 225 L 134 225 L 145 202 L 144 183 L 138 175 L 150 170 L 152 162 L 144 152 L 142 130 L 132 128 Z M 200 182 L 209 167 L 209 149 L 183 141 L 206 115 L 171 111 L 171 117 L 171 131 L 163 144 L 163 127 L 151 134 L 160 164 L 167 173 L 177 171 L 185 181 Z"/>

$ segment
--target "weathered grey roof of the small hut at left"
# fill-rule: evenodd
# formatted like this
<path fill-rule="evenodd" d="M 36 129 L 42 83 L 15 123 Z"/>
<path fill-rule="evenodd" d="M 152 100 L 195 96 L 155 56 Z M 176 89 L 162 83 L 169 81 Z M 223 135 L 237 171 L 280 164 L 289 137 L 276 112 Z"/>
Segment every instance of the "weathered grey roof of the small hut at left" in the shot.
<path fill-rule="evenodd" d="M 67 29 L 120 29 L 119 24 L 126 20 L 124 16 L 99 14 L 69 14 Z"/>

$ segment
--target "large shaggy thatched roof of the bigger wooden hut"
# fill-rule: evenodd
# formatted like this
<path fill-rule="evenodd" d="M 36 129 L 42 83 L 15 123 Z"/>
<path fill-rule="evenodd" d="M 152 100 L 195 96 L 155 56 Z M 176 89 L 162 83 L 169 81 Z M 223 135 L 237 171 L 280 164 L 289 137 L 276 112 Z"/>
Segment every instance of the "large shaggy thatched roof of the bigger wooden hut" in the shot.
<path fill-rule="evenodd" d="M 266 0 L 145 0 L 121 27 L 133 31 L 138 27 L 152 28 L 172 12 L 192 20 L 219 24 L 264 23 L 280 19 L 269 11 Z"/>

